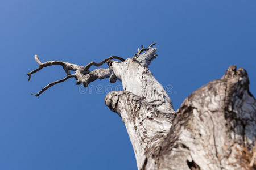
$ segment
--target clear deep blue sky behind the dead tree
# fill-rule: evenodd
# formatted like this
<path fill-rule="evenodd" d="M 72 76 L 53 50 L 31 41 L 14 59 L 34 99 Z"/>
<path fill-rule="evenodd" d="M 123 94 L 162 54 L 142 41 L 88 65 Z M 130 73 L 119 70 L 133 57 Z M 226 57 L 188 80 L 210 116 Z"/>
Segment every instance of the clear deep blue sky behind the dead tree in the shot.
<path fill-rule="evenodd" d="M 230 65 L 249 73 L 256 93 L 256 1 L 0 1 L 0 169 L 136 169 L 125 126 L 104 104 L 108 79 L 81 93 L 60 66 L 79 65 L 157 42 L 150 65 L 175 110 Z M 106 65 L 105 65 L 106 67 Z M 163 71 L 165 74 L 162 74 Z M 112 84 L 115 88 L 118 84 Z M 95 92 L 96 86 L 102 86 Z"/>

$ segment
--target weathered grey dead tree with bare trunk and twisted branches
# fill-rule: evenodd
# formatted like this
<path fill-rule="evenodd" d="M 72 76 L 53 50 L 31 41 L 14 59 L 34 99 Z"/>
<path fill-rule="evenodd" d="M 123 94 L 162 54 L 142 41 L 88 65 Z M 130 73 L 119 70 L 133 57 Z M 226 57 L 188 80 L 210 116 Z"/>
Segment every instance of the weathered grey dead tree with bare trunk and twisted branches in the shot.
<path fill-rule="evenodd" d="M 148 69 L 156 58 L 153 45 L 142 46 L 131 58 L 111 56 L 86 66 L 42 63 L 35 56 L 39 67 L 27 73 L 28 80 L 51 65 L 63 66 L 67 76 L 33 95 L 69 78 L 85 87 L 96 79 L 120 80 L 124 91 L 109 92 L 105 104 L 122 118 L 138 169 L 255 169 L 256 103 L 246 70 L 230 66 L 222 78 L 193 92 L 175 112 L 166 91 Z M 91 66 L 104 63 L 108 69 L 90 71 Z"/>

